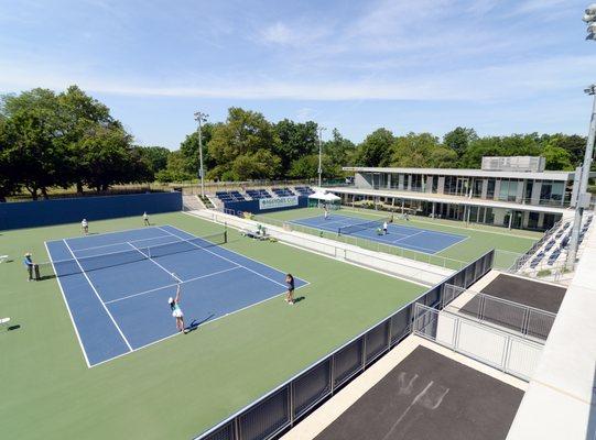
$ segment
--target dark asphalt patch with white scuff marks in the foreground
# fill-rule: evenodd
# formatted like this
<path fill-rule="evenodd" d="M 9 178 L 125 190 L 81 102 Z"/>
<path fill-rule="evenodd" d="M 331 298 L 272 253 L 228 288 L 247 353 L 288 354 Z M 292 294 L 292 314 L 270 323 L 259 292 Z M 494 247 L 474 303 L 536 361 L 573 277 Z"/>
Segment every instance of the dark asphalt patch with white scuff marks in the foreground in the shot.
<path fill-rule="evenodd" d="M 317 440 L 503 440 L 523 392 L 423 346 Z"/>

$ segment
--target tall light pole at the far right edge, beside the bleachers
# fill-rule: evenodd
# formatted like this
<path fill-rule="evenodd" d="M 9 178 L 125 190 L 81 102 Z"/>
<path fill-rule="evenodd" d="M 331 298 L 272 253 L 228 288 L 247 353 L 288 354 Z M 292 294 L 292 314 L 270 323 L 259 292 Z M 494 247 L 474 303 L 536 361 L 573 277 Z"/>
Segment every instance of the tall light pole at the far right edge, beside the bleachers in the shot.
<path fill-rule="evenodd" d="M 596 40 L 596 3 L 586 8 L 586 13 L 583 18 L 587 23 L 587 36 L 586 40 Z M 592 103 L 592 117 L 589 119 L 589 131 L 586 143 L 586 152 L 584 155 L 584 163 L 582 164 L 579 173 L 579 183 L 577 185 L 575 202 L 575 219 L 573 221 L 573 229 L 570 241 L 570 252 L 567 254 L 567 265 L 573 268 L 575 260 L 577 258 L 577 248 L 579 245 L 579 231 L 582 230 L 582 217 L 584 215 L 584 208 L 589 207 L 590 195 L 587 193 L 587 184 L 589 179 L 589 168 L 592 167 L 592 155 L 594 153 L 594 140 L 596 136 L 596 85 L 592 85 L 584 90 L 587 95 L 594 97 Z M 576 175 L 577 177 L 577 175 Z"/>

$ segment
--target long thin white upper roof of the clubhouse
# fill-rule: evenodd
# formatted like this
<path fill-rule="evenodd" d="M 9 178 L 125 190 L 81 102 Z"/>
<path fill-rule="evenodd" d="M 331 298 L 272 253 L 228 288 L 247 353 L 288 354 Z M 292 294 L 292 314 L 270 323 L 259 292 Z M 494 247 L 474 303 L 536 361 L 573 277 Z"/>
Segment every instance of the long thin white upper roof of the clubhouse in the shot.
<path fill-rule="evenodd" d="M 468 177 L 505 177 L 535 180 L 574 180 L 575 172 L 489 172 L 484 169 L 464 168 L 393 168 L 393 167 L 369 167 L 369 166 L 344 166 L 345 172 L 355 173 L 400 173 L 400 174 L 430 174 L 435 176 L 468 176 Z M 590 173 L 596 177 L 596 173 Z"/>

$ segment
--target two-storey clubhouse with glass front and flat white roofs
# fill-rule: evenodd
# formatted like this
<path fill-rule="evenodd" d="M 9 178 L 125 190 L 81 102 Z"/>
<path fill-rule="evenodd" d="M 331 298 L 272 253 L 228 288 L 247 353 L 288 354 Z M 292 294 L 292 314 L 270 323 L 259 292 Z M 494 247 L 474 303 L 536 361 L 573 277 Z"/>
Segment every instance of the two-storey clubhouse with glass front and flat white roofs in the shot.
<path fill-rule="evenodd" d="M 573 212 L 575 172 L 544 170 L 543 157 L 484 157 L 481 169 L 343 169 L 354 183 L 326 189 L 345 205 L 537 231 Z"/>

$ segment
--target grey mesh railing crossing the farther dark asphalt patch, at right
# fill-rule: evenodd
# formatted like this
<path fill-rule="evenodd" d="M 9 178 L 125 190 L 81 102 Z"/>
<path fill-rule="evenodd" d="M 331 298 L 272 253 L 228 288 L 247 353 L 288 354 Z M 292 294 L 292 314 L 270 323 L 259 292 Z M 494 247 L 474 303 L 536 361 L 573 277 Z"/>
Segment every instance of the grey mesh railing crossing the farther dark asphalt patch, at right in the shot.
<path fill-rule="evenodd" d="M 464 295 L 462 299 L 465 302 L 457 301 L 463 304 L 455 306 L 453 301 L 460 295 Z M 556 314 L 546 310 L 453 285 L 445 285 L 442 299 L 442 308 L 445 310 L 541 341 L 546 340 L 556 318 Z"/>

